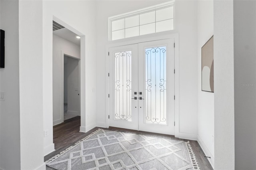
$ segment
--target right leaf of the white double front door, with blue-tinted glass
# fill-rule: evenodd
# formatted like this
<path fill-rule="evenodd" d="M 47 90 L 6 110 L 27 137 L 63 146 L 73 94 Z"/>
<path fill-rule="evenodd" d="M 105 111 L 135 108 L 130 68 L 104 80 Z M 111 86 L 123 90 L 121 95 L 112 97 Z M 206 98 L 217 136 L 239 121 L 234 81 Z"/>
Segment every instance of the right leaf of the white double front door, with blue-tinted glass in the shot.
<path fill-rule="evenodd" d="M 174 39 L 139 43 L 139 130 L 174 134 Z"/>

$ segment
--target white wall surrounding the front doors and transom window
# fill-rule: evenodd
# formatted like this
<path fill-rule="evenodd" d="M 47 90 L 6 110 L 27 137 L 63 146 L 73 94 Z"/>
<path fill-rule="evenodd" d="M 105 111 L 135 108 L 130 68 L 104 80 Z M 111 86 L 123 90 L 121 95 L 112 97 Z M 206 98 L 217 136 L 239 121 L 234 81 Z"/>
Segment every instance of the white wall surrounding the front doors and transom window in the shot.
<path fill-rule="evenodd" d="M 97 125 L 106 127 L 106 45 L 108 17 L 146 8 L 166 1 L 97 1 Z M 197 4 L 176 1 L 176 30 L 180 49 L 180 135 L 197 137 Z M 163 34 L 163 33 L 162 33 Z M 148 35 L 150 37 L 152 35 Z M 133 38 L 134 39 L 134 38 Z M 120 40 L 124 42 L 125 40 Z M 118 41 L 115 41 L 118 42 Z"/>

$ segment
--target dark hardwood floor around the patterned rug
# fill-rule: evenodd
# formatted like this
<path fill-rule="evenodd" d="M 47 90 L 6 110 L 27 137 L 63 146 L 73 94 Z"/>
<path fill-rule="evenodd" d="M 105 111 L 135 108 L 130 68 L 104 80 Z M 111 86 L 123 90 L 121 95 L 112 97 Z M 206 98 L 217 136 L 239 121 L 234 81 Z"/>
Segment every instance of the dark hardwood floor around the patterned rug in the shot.
<path fill-rule="evenodd" d="M 94 132 L 96 129 L 98 129 L 98 127 L 95 127 L 86 133 L 79 132 L 80 117 L 74 117 L 72 119 L 68 119 L 68 120 L 64 121 L 64 123 L 54 126 L 53 127 L 53 142 L 55 144 L 55 151 L 44 156 L 44 161 L 52 158 L 56 154 L 59 154 L 62 150 L 65 150 L 66 148 L 74 145 L 76 142 L 78 142 L 82 138 L 88 136 L 90 133 Z M 102 128 L 102 129 L 121 131 L 121 132 L 134 132 L 136 134 L 147 134 L 147 135 L 152 135 L 152 136 L 158 136 L 161 138 L 172 137 L 174 140 L 184 140 L 184 139 L 180 139 L 180 138 L 175 138 L 172 135 L 156 134 L 156 133 L 150 133 L 150 132 L 142 132 L 142 131 L 136 131 L 136 130 L 115 128 L 115 127 Z M 188 141 L 188 140 L 184 140 L 184 141 Z M 213 170 L 208 159 L 204 157 L 205 156 L 204 152 L 202 151 L 202 148 L 199 146 L 198 142 L 195 140 L 189 140 L 189 141 L 194 150 L 194 154 L 196 155 L 196 159 L 197 159 L 200 169 L 201 170 Z M 54 170 L 54 169 L 46 166 L 46 170 Z"/>

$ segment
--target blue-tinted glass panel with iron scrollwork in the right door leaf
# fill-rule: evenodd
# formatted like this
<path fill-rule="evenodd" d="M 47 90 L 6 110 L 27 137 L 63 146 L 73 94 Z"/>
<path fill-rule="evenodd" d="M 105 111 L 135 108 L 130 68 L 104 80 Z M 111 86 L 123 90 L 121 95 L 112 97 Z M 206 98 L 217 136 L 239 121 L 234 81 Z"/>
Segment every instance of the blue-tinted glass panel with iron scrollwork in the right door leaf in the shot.
<path fill-rule="evenodd" d="M 166 46 L 145 49 L 145 123 L 166 125 Z"/>

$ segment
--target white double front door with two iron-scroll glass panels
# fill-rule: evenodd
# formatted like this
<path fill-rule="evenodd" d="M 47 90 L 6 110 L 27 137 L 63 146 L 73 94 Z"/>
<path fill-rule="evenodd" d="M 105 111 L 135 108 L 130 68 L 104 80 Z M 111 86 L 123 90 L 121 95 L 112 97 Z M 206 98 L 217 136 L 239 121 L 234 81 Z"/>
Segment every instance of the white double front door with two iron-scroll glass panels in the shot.
<path fill-rule="evenodd" d="M 174 134 L 174 39 L 109 49 L 109 126 Z"/>

